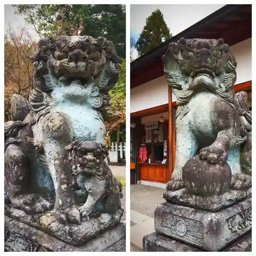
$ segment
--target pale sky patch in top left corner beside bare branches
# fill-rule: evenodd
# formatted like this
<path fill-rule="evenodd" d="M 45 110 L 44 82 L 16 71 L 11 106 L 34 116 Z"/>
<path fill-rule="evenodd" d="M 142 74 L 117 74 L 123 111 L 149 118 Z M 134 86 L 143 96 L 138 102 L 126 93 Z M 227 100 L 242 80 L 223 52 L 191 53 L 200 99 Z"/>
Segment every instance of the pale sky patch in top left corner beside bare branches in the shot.
<path fill-rule="evenodd" d="M 33 26 L 26 24 L 24 17 L 14 14 L 14 12 L 15 8 L 11 5 L 5 5 L 5 31 L 8 30 L 10 24 L 14 32 L 18 34 L 20 29 L 25 26 L 34 39 L 39 40 L 40 37 L 35 32 Z"/>

